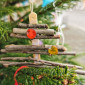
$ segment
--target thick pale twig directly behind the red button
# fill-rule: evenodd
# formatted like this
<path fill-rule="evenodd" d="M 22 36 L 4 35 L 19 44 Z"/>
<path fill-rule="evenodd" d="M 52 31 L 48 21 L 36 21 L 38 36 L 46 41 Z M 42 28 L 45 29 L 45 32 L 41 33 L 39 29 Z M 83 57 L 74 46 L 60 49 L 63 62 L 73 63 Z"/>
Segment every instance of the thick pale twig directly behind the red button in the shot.
<path fill-rule="evenodd" d="M 28 29 L 21 29 L 21 28 L 13 28 L 13 33 L 16 34 L 27 34 Z M 37 34 L 44 34 L 44 35 L 54 35 L 53 29 L 34 29 Z"/>

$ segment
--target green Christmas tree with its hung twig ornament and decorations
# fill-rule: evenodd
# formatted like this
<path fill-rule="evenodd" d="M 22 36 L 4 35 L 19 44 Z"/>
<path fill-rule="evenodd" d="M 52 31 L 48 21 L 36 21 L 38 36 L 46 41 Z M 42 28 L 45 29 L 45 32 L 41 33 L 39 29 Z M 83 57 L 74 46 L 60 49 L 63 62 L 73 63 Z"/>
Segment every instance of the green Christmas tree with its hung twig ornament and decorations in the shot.
<path fill-rule="evenodd" d="M 34 6 L 28 0 L 0 1 L 1 85 L 81 84 L 77 74 L 84 75 L 85 72 L 76 70 L 82 69 L 81 66 L 62 64 L 65 63 L 66 55 L 74 56 L 75 53 L 65 52 L 64 46 L 55 45 L 54 39 L 59 39 L 60 35 L 55 34 L 58 27 L 53 26 L 51 21 L 55 7 L 66 10 L 78 0 L 55 0 L 55 7 L 54 0 L 43 0 L 43 5 L 38 0 L 33 1 Z M 19 66 L 22 67 L 18 69 Z"/>

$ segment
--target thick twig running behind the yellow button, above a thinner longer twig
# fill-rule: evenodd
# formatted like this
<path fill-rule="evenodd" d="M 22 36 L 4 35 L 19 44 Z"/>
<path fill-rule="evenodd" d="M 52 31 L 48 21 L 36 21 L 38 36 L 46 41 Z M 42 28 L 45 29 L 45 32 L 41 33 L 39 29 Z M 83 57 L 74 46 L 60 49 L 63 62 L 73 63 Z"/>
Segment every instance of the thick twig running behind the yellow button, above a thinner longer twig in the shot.
<path fill-rule="evenodd" d="M 7 51 L 11 50 L 48 50 L 52 45 L 6 45 L 5 49 Z M 67 49 L 64 46 L 61 45 L 55 45 L 59 51 L 63 52 L 66 51 Z"/>

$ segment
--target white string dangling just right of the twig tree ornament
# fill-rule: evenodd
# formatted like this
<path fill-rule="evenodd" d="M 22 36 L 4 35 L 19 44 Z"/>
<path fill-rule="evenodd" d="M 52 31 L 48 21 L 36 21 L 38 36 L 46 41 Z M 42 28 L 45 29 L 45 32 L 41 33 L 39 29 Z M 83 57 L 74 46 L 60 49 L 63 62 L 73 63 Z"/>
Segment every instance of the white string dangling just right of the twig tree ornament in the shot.
<path fill-rule="evenodd" d="M 58 13 L 58 11 L 56 11 L 55 3 L 56 3 L 56 1 L 53 3 L 53 6 L 54 6 L 55 12 L 58 14 L 58 18 L 59 18 L 60 17 L 60 14 Z M 62 45 L 64 45 L 65 38 L 64 38 L 64 34 L 63 34 L 63 31 L 62 31 L 61 23 L 60 22 L 58 23 L 58 34 L 61 35 L 61 37 L 62 37 Z M 56 45 L 59 45 L 59 42 L 60 42 L 60 40 L 57 39 Z"/>

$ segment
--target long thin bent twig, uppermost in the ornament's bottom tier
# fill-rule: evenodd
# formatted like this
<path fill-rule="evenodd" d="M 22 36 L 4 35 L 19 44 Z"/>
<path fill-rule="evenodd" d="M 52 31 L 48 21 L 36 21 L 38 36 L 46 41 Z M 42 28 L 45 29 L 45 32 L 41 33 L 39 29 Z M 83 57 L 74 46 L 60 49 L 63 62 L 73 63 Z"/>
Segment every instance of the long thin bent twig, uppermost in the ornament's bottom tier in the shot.
<path fill-rule="evenodd" d="M 70 65 L 70 64 L 62 64 L 62 63 L 56 63 L 56 62 L 51 62 L 51 61 L 46 61 L 46 60 L 37 60 L 31 57 L 5 57 L 5 58 L 1 58 L 1 60 L 32 60 L 32 61 L 37 61 L 40 62 L 41 64 L 44 65 L 50 65 L 50 66 L 59 66 L 59 67 L 65 67 L 68 66 L 69 68 L 77 68 L 77 69 L 82 69 L 81 66 L 76 66 L 76 65 Z"/>

